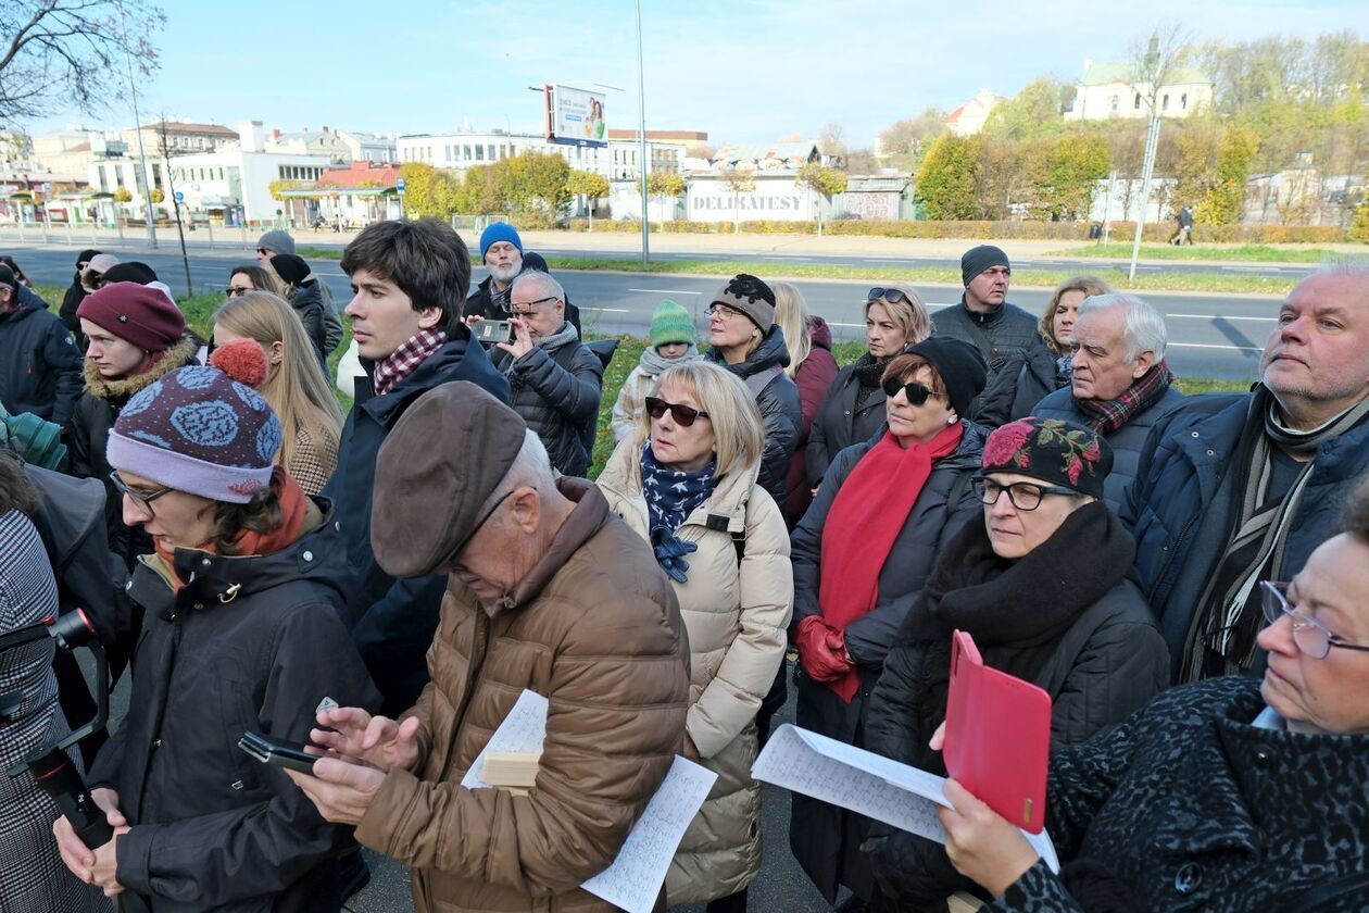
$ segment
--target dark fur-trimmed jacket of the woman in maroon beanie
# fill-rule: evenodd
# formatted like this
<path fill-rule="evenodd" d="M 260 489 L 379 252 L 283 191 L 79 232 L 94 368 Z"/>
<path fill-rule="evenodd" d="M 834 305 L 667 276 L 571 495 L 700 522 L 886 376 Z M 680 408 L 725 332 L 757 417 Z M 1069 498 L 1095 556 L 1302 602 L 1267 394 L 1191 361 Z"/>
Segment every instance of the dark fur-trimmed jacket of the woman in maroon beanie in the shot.
<path fill-rule="evenodd" d="M 152 386 L 177 368 L 194 364 L 197 348 L 194 339 L 182 337 L 151 368 L 119 381 L 100 376 L 94 361 L 85 364 L 85 393 L 81 394 L 77 409 L 71 415 L 71 434 L 67 437 L 71 445 L 71 475 L 78 479 L 97 479 L 104 486 L 104 520 L 110 534 L 110 550 L 118 554 L 130 571 L 137 565 L 140 554 L 152 553 L 152 538 L 142 531 L 141 526 L 127 527 L 123 524 L 123 498 L 114 487 L 114 482 L 110 480 L 110 472 L 114 467 L 104 457 L 105 445 L 110 442 L 110 430 L 114 428 L 119 412 L 129 404 L 133 394 L 142 387 Z"/>

